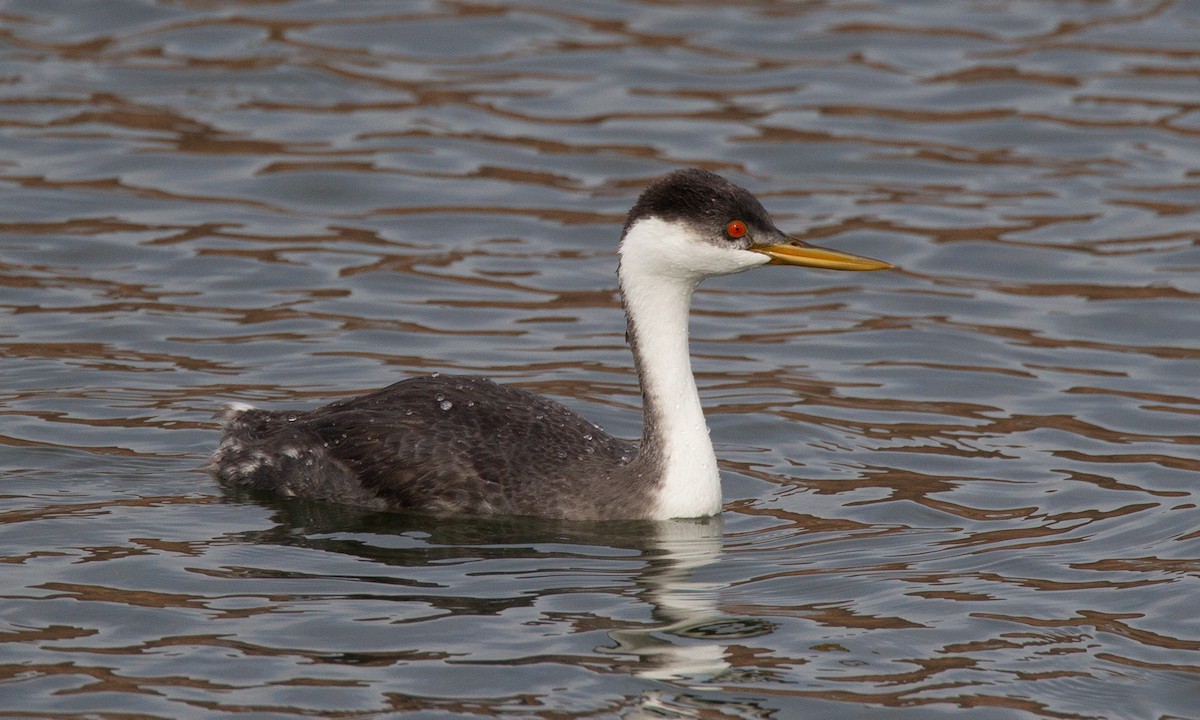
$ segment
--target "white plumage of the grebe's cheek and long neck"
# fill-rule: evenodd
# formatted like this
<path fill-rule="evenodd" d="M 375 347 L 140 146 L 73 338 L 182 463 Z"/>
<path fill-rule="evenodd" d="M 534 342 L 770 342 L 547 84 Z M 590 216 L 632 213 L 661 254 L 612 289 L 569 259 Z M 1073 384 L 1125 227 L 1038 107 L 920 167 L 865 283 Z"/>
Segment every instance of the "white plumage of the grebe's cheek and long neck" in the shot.
<path fill-rule="evenodd" d="M 632 320 L 638 370 L 661 451 L 662 478 L 650 517 L 721 511 L 721 478 L 691 373 L 688 312 L 704 277 L 740 272 L 766 256 L 704 242 L 679 223 L 638 220 L 620 245 L 620 287 Z M 646 442 L 648 438 L 643 438 Z"/>

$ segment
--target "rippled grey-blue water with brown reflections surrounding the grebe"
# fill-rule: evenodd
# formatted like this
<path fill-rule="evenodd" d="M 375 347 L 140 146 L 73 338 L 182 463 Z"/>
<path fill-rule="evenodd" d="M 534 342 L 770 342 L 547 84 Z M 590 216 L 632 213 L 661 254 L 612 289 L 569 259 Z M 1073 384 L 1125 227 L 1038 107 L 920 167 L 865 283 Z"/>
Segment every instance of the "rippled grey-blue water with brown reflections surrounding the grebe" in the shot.
<path fill-rule="evenodd" d="M 10 718 L 1200 716 L 1200 4 L 0 8 Z M 433 371 L 638 434 L 619 222 L 706 167 L 889 259 L 696 298 L 722 522 L 223 496 L 222 402 Z"/>

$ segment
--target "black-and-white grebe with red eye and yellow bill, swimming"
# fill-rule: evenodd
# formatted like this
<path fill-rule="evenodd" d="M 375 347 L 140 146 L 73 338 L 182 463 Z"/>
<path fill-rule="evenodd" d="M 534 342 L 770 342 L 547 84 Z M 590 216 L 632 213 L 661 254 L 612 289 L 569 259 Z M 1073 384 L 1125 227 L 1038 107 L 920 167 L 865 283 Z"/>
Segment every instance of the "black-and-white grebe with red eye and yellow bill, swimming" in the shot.
<path fill-rule="evenodd" d="M 688 349 L 706 277 L 761 265 L 883 270 L 784 234 L 746 190 L 701 169 L 652 182 L 625 220 L 618 281 L 642 390 L 642 438 L 480 377 L 414 377 L 313 410 L 218 414 L 211 458 L 235 487 L 377 510 L 666 520 L 721 511 Z"/>

